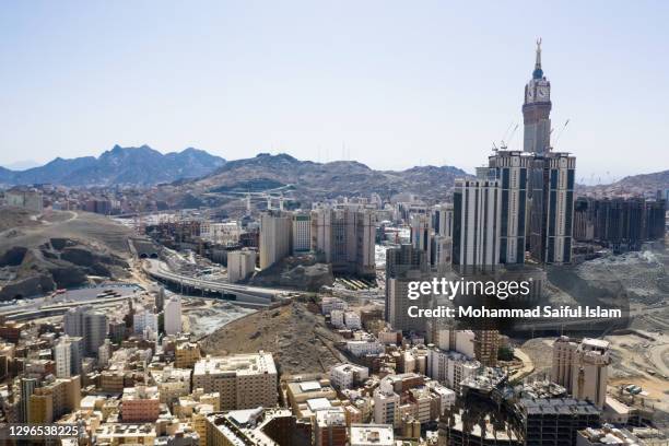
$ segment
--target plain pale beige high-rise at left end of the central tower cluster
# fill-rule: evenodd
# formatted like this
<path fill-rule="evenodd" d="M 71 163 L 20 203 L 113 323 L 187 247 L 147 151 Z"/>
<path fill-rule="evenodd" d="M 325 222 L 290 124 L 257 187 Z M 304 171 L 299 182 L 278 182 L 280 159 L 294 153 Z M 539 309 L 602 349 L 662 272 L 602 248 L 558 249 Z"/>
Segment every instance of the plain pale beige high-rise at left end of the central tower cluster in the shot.
<path fill-rule="evenodd" d="M 265 270 L 291 254 L 292 216 L 267 211 L 260 216 L 260 269 Z"/>

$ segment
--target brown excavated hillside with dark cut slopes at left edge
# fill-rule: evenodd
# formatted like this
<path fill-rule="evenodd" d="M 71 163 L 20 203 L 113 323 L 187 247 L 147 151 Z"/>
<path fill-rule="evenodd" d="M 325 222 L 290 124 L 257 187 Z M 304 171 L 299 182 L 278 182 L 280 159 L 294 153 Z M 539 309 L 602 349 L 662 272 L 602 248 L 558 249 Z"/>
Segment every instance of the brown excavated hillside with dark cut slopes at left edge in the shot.
<path fill-rule="evenodd" d="M 127 227 L 87 212 L 0 208 L 0 301 L 128 275 Z"/>

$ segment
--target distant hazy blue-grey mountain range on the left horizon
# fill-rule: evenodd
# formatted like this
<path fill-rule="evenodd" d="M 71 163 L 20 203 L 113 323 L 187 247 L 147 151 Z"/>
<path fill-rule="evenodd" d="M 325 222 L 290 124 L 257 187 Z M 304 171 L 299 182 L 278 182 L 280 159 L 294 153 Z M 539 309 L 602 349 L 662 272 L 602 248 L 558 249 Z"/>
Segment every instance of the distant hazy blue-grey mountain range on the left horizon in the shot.
<path fill-rule="evenodd" d="M 0 168 L 5 185 L 57 184 L 64 186 L 155 185 L 197 178 L 225 164 L 225 160 L 188 148 L 162 154 L 149 145 L 115 145 L 97 159 L 83 156 L 56 160 L 40 167 L 14 172 Z"/>

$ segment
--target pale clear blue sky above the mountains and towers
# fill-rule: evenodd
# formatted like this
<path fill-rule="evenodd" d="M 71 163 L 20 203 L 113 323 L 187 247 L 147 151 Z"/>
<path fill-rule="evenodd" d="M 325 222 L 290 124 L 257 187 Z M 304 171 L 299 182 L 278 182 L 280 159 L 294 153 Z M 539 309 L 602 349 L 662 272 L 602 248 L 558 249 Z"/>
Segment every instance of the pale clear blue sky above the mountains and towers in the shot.
<path fill-rule="evenodd" d="M 668 2 L 463 3 L 5 1 L 0 164 L 345 145 L 375 168 L 471 171 L 520 121 L 541 36 L 578 179 L 669 168 Z"/>

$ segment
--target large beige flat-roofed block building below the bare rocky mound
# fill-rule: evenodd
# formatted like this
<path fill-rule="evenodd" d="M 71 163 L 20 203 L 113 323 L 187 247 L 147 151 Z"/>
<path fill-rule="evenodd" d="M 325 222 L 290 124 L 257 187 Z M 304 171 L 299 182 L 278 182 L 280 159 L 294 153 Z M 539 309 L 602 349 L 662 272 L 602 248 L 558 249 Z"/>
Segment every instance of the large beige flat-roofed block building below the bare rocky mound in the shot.
<path fill-rule="evenodd" d="M 271 353 L 206 357 L 195 364 L 193 388 L 216 391 L 221 410 L 277 406 L 278 374 Z"/>

